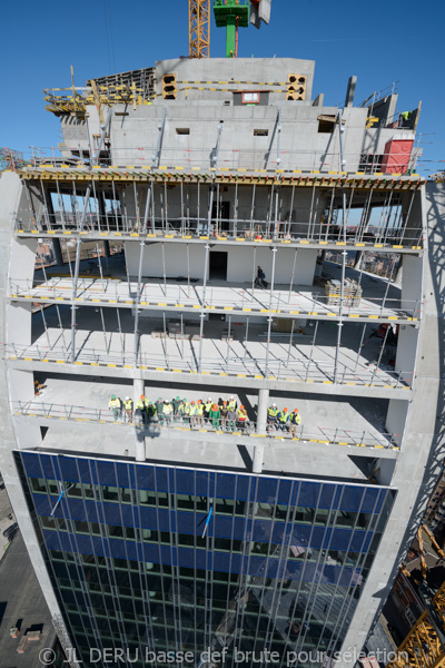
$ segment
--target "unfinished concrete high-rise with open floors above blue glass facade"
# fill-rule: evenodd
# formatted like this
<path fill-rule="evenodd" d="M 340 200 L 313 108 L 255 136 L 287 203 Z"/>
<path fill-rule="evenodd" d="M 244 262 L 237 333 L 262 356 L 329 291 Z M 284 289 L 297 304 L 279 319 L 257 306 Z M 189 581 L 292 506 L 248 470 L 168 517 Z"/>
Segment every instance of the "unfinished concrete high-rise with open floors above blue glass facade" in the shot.
<path fill-rule="evenodd" d="M 184 59 L 48 91 L 63 157 L 0 180 L 2 473 L 83 660 L 359 650 L 424 510 L 443 203 L 414 174 L 416 114 L 354 107 L 354 78 L 324 107 L 313 77 Z M 394 255 L 386 281 L 367 250 Z M 234 395 L 250 423 L 115 422 L 111 394 Z M 267 430 L 273 401 L 296 433 Z"/>

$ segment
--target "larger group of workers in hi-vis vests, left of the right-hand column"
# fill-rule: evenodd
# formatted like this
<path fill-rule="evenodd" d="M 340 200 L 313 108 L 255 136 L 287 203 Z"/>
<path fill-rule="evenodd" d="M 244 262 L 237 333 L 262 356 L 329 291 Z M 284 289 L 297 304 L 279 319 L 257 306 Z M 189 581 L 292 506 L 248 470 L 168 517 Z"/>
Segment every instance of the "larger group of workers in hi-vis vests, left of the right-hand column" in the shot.
<path fill-rule="evenodd" d="M 168 426 L 171 422 L 184 422 L 190 428 L 208 424 L 216 430 L 229 432 L 249 430 L 247 411 L 244 405 L 238 407 L 234 396 L 228 401 L 219 399 L 218 403 L 210 396 L 207 401 L 198 399 L 196 402 L 179 396 L 171 401 L 159 397 L 151 402 L 142 394 L 135 405 L 130 396 L 122 401 L 113 394 L 108 407 L 112 411 L 115 422 L 125 415 L 126 422 L 130 424 L 135 421 L 138 424 L 158 423 Z"/>

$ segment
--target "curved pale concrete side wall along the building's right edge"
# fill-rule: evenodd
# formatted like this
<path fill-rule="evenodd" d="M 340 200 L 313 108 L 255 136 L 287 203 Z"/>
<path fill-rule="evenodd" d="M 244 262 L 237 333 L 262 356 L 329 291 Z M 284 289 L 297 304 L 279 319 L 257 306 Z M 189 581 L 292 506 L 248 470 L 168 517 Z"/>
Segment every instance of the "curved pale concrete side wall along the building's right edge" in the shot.
<path fill-rule="evenodd" d="M 441 420 L 445 403 L 443 382 L 445 188 L 443 185 L 428 184 L 426 191 L 425 189 L 422 191 L 422 212 L 427 246 L 423 266 L 425 307 L 418 336 L 417 377 L 406 418 L 405 436 L 392 480 L 398 493 L 345 638 L 344 650 L 349 647 L 359 650 L 373 629 L 397 574 L 398 564 L 413 541 L 436 480 L 443 470 L 445 444 L 445 432 Z M 438 315 L 441 317 L 437 317 Z M 406 336 L 414 338 L 415 334 L 407 332 Z M 393 418 L 396 418 L 395 413 L 390 419 Z M 336 668 L 352 668 L 352 661 L 340 660 Z"/>

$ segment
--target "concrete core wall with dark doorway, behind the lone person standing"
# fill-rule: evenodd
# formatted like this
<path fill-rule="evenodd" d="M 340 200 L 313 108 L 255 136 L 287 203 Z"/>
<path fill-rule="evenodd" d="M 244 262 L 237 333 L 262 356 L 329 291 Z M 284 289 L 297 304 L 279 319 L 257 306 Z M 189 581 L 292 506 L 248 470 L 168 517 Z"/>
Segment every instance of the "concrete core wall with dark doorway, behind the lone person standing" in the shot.
<path fill-rule="evenodd" d="M 204 278 L 206 248 L 204 245 L 189 244 L 190 277 Z M 228 254 L 227 281 L 239 283 L 251 283 L 260 265 L 270 281 L 273 253 L 264 246 L 256 248 L 234 247 L 218 245 L 215 250 Z M 135 277 L 138 275 L 140 244 L 137 242 L 125 242 L 126 262 L 128 273 Z M 211 254 L 211 250 L 210 250 Z M 164 257 L 166 263 L 167 278 L 187 276 L 187 248 L 184 244 L 164 244 Z M 289 285 L 295 258 L 295 249 L 279 248 L 276 257 L 275 283 Z M 317 250 L 313 248 L 299 248 L 295 263 L 295 285 L 312 285 L 314 281 L 315 262 Z M 147 245 L 144 252 L 142 275 L 156 278 L 164 277 L 162 244 L 152 243 Z M 208 277 L 208 274 L 207 274 Z"/>

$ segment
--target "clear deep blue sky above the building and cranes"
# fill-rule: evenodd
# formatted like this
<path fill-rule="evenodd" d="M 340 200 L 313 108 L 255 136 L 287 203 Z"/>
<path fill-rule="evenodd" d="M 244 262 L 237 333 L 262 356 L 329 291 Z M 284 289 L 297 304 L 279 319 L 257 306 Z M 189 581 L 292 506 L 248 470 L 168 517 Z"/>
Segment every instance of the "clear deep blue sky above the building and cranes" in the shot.
<path fill-rule="evenodd" d="M 313 96 L 342 105 L 358 77 L 355 104 L 396 84 L 398 111 L 422 100 L 419 171 L 445 168 L 444 0 L 273 0 L 269 26 L 239 31 L 239 57 L 316 60 Z M 57 146 L 59 120 L 43 88 L 187 56 L 188 0 L 9 0 L 2 6 L 0 146 Z M 225 30 L 210 30 L 210 53 L 225 55 Z M 442 111 L 441 111 L 442 109 Z M 48 150 L 48 154 L 51 151 Z"/>

